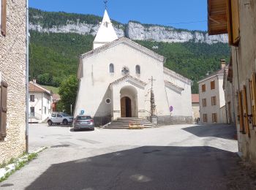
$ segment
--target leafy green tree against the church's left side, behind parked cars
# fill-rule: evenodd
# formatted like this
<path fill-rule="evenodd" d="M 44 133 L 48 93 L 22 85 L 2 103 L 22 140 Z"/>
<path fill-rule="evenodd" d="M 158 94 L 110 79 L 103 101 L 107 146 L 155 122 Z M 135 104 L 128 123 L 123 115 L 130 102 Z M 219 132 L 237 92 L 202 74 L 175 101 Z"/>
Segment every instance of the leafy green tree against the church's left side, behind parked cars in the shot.
<path fill-rule="evenodd" d="M 75 75 L 70 75 L 61 83 L 59 87 L 59 95 L 61 96 L 60 105 L 62 110 L 71 114 L 70 105 L 75 106 L 75 100 L 78 91 L 78 80 Z"/>

